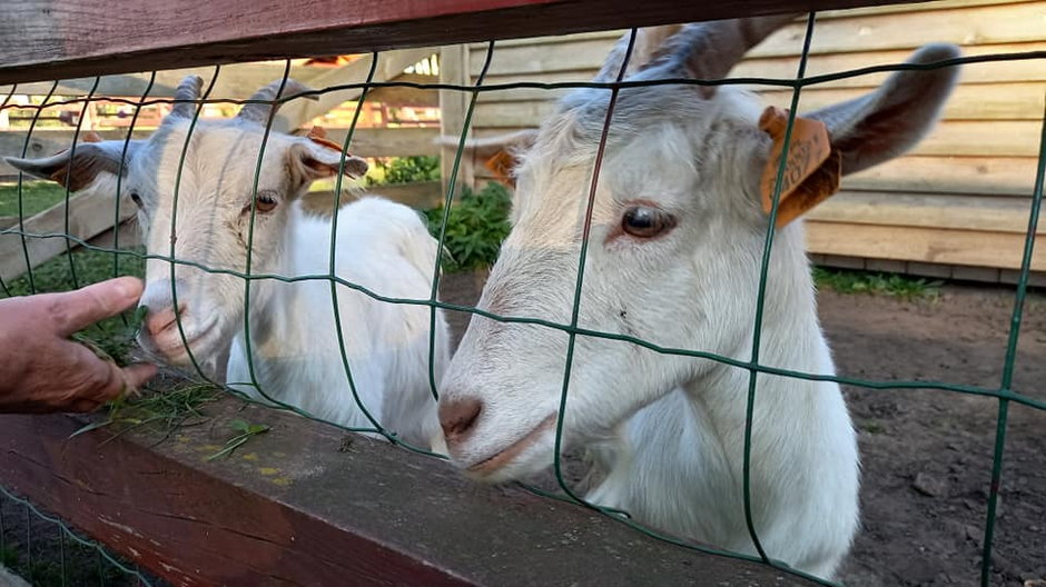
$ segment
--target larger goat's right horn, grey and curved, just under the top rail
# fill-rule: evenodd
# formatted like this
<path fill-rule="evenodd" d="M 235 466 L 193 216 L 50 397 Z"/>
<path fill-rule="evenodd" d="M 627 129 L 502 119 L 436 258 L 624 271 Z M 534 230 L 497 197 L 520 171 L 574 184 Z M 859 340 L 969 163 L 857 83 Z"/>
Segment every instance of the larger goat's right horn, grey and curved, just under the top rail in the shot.
<path fill-rule="evenodd" d="M 798 14 L 776 14 L 688 24 L 664 43 L 658 62 L 683 66 L 694 79 L 721 79 L 749 49 Z"/>

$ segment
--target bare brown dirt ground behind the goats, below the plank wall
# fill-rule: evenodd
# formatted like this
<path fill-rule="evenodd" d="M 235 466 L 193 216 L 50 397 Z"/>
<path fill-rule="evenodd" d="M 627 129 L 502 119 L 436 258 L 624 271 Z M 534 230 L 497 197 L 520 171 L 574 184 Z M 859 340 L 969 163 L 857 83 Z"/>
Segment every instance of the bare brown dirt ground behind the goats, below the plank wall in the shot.
<path fill-rule="evenodd" d="M 475 302 L 482 277 L 443 298 Z M 934 301 L 821 291 L 842 376 L 998 387 L 1013 288 L 947 285 Z M 460 336 L 467 316 L 451 314 Z M 1013 388 L 1046 399 L 1046 296 L 1024 311 Z M 932 389 L 845 390 L 859 430 L 862 529 L 839 579 L 856 587 L 976 585 L 998 401 Z M 1046 579 L 1046 412 L 1010 405 L 993 585 Z"/>

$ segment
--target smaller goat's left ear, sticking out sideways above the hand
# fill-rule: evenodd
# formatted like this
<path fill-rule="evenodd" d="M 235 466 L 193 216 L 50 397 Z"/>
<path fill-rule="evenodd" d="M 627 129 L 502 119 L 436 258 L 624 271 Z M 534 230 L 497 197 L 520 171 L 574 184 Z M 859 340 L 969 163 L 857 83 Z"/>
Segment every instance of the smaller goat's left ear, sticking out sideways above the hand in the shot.
<path fill-rule="evenodd" d="M 132 140 L 127 147 L 129 160 L 141 141 Z M 122 140 L 101 142 L 81 142 L 73 149 L 66 149 L 51 157 L 41 159 L 19 159 L 4 157 L 11 167 L 41 179 L 49 179 L 60 183 L 71 191 L 80 191 L 98 179 L 109 173 L 116 176 L 121 172 L 120 155 L 124 152 Z M 71 158 L 71 161 L 70 161 Z M 122 173 L 127 175 L 127 166 L 122 166 Z"/>

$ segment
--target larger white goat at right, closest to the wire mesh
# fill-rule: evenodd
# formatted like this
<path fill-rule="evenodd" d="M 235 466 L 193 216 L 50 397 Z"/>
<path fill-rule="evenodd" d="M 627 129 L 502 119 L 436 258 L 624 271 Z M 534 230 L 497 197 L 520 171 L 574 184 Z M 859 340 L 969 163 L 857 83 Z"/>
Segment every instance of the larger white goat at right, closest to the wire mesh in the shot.
<path fill-rule="evenodd" d="M 642 37 L 625 81 L 721 78 L 787 20 L 691 24 L 664 42 Z M 625 37 L 599 81 L 618 74 Z M 955 54 L 930 46 L 912 62 Z M 827 126 L 841 172 L 855 172 L 917 142 L 955 74 L 898 72 L 869 96 L 807 116 Z M 480 308 L 571 322 L 610 94 L 566 97 L 519 153 L 512 232 Z M 731 86 L 620 90 L 594 195 L 580 328 L 749 360 L 768 226 L 759 182 L 771 139 L 757 126 L 761 111 L 754 96 Z M 801 221 L 776 233 L 766 296 L 759 362 L 833 374 Z M 742 500 L 749 371 L 579 335 L 559 414 L 568 341 L 561 330 L 473 317 L 441 384 L 453 462 L 487 481 L 533 474 L 552 461 L 561 418 L 563 448 L 596 449 L 608 467 L 590 500 L 754 553 Z M 768 556 L 831 576 L 858 527 L 859 488 L 856 437 L 835 382 L 758 376 L 750 472 L 754 529 Z"/>

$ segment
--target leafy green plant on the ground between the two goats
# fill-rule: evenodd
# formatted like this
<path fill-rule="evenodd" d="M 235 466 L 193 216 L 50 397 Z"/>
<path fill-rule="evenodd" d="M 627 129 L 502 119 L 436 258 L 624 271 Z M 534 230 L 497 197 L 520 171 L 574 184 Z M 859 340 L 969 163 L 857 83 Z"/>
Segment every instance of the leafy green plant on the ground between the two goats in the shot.
<path fill-rule="evenodd" d="M 443 241 L 445 271 L 484 269 L 494 263 L 501 243 L 509 236 L 509 212 L 512 200 L 501 183 L 490 182 L 478 192 L 462 189 L 461 198 L 451 205 Z M 438 238 L 444 207 L 425 211 L 428 230 Z"/>

